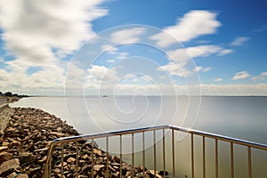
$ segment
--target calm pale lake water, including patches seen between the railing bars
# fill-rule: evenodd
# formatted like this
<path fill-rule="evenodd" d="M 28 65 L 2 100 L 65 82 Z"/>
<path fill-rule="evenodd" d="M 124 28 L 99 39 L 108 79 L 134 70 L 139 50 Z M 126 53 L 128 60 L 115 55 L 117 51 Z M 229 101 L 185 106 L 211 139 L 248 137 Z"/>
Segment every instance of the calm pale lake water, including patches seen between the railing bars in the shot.
<path fill-rule="evenodd" d="M 267 144 L 267 97 L 31 97 L 14 102 L 11 106 L 44 109 L 66 120 L 69 125 L 74 125 L 81 134 L 95 134 L 150 125 L 182 125 L 214 134 Z M 158 144 L 160 142 L 161 137 L 158 137 Z M 189 148 L 183 147 L 182 142 L 190 142 L 189 138 L 177 138 L 176 143 L 177 147 L 189 154 Z M 200 144 L 200 139 L 196 138 L 196 147 Z M 207 151 L 212 150 L 213 146 L 208 146 L 212 143 L 207 141 L 206 144 Z M 220 150 L 221 165 L 230 159 L 229 147 L 223 144 L 221 143 L 223 149 Z M 150 144 L 147 145 L 148 157 L 152 152 L 150 146 Z M 157 150 L 161 151 L 160 147 Z M 247 161 L 247 159 L 244 160 L 246 150 L 235 148 L 235 152 L 237 152 L 236 162 Z M 201 155 L 200 153 L 201 150 L 199 150 L 199 155 Z M 180 153 L 176 155 L 178 159 L 182 158 L 183 160 L 178 170 L 180 177 L 190 173 L 190 158 L 186 155 L 180 155 Z M 196 157 L 198 157 L 197 155 L 198 149 Z M 140 158 L 141 156 L 137 156 L 135 161 L 138 163 Z M 130 161 L 127 155 L 124 156 L 124 159 Z M 201 164 L 200 160 L 200 157 L 196 158 L 197 175 L 201 174 L 201 166 L 198 166 L 198 163 Z M 253 160 L 258 165 L 254 167 L 254 177 L 267 177 L 266 153 L 254 151 Z M 146 162 L 149 166 L 152 164 L 149 160 Z M 212 161 L 207 163 L 207 167 L 213 166 Z M 158 169 L 161 167 L 159 165 Z M 214 177 L 213 170 L 208 169 L 206 177 Z M 223 170 L 219 172 L 221 177 L 230 177 L 227 166 L 220 166 L 220 170 Z M 247 177 L 244 170 L 246 170 L 246 166 L 236 167 L 236 177 Z"/>

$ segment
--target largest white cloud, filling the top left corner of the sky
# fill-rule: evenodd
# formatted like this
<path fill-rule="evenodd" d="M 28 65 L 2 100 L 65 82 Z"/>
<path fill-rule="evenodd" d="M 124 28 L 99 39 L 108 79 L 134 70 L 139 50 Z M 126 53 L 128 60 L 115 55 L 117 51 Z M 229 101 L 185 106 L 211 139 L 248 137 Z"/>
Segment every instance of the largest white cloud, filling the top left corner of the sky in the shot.
<path fill-rule="evenodd" d="M 7 49 L 32 66 L 69 54 L 94 35 L 92 20 L 107 14 L 94 1 L 8 1 L 1 5 L 1 28 Z"/>

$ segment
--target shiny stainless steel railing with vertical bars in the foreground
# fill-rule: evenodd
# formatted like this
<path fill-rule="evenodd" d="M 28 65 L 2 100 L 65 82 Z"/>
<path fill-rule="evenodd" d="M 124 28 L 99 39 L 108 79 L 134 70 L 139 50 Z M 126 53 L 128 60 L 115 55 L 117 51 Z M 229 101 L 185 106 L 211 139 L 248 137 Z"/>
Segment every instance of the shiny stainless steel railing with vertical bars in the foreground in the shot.
<path fill-rule="evenodd" d="M 65 138 L 60 138 L 60 139 L 56 139 L 54 140 L 51 145 L 50 145 L 50 149 L 48 152 L 48 156 L 46 159 L 46 163 L 44 166 L 44 177 L 51 177 L 52 174 L 52 166 L 53 166 L 53 150 L 55 149 L 56 146 L 61 145 L 61 160 L 60 160 L 60 165 L 61 165 L 61 177 L 63 177 L 63 158 L 64 158 L 64 144 L 69 143 L 69 142 L 75 142 L 76 143 L 76 172 L 75 172 L 75 177 L 78 177 L 78 144 L 79 142 L 85 142 L 85 141 L 91 141 L 92 143 L 94 142 L 94 140 L 96 139 L 100 139 L 100 138 L 105 138 L 106 139 L 106 174 L 105 177 L 110 177 L 109 175 L 109 138 L 111 137 L 119 137 L 119 141 L 118 141 L 118 145 L 119 145 L 119 158 L 120 158 L 120 171 L 119 171 L 119 177 L 123 177 L 122 176 L 122 155 L 123 155 L 123 150 L 122 150 L 122 136 L 123 135 L 131 135 L 131 140 L 132 140 L 132 163 L 131 165 L 133 166 L 134 169 L 134 134 L 141 134 L 142 135 L 142 166 L 146 167 L 146 152 L 145 152 L 145 142 L 146 142 L 146 137 L 145 137 L 145 133 L 147 132 L 151 132 L 152 133 L 152 142 L 153 142 L 153 169 L 154 169 L 154 173 L 156 173 L 157 170 L 157 164 L 158 164 L 158 154 L 157 154 L 157 141 L 156 141 L 156 131 L 162 131 L 162 165 L 163 165 L 163 177 L 166 177 L 166 131 L 171 131 L 171 139 L 170 139 L 170 145 L 171 145 L 171 154 L 172 158 L 171 160 L 168 161 L 168 163 L 171 161 L 172 163 L 172 177 L 176 176 L 176 158 L 175 158 L 175 154 L 177 154 L 175 152 L 175 134 L 182 132 L 185 134 L 189 134 L 190 136 L 190 177 L 194 178 L 197 177 L 195 170 L 197 166 L 201 166 L 201 165 L 196 165 L 195 163 L 195 147 L 197 145 L 197 143 L 195 142 L 196 137 L 200 137 L 201 138 L 201 142 L 202 142 L 202 177 L 205 178 L 206 177 L 206 170 L 208 167 L 206 167 L 206 156 L 208 155 L 208 152 L 206 152 L 206 140 L 207 139 L 211 139 L 214 141 L 214 177 L 218 178 L 219 177 L 219 144 L 218 142 L 228 142 L 230 143 L 230 172 L 231 172 L 231 178 L 235 177 L 235 151 L 234 151 L 234 146 L 235 145 L 241 145 L 244 146 L 245 148 L 247 148 L 247 177 L 252 178 L 253 177 L 253 168 L 252 168 L 252 149 L 256 149 L 256 150 L 263 150 L 264 153 L 267 154 L 267 145 L 265 144 L 261 144 L 261 143 L 257 143 L 257 142 L 247 142 L 244 140 L 239 140 L 239 139 L 235 139 L 235 138 L 231 138 L 231 137 L 227 137 L 227 136 L 223 136 L 223 135 L 219 135 L 219 134 L 210 134 L 210 133 L 206 133 L 206 132 L 201 132 L 198 130 L 193 130 L 193 129 L 187 129 L 187 128 L 183 128 L 183 127 L 179 127 L 179 126 L 174 126 L 174 125 L 161 125 L 161 126 L 153 126 L 153 127 L 145 127 L 145 128 L 137 128 L 137 129 L 130 129 L 130 130 L 124 130 L 124 131 L 116 131 L 116 132 L 110 132 L 110 133 L 104 133 L 104 134 L 90 134 L 90 135 L 80 135 L 80 136 L 73 136 L 73 137 L 65 137 Z M 199 140 L 199 138 L 198 138 Z M 129 145 L 127 145 L 129 147 Z M 197 145 L 199 147 L 199 144 Z M 92 144 L 92 149 L 91 149 L 91 155 L 92 155 L 92 170 L 91 170 L 91 174 L 89 174 L 89 177 L 93 177 L 93 164 L 94 164 L 94 160 L 93 160 L 93 144 Z M 267 158 L 267 157 L 266 157 Z M 134 171 L 133 171 L 134 172 Z M 145 174 L 145 169 L 142 170 L 142 174 Z M 199 176 L 199 175 L 198 175 Z M 132 174 L 132 177 L 134 177 L 134 174 Z"/>

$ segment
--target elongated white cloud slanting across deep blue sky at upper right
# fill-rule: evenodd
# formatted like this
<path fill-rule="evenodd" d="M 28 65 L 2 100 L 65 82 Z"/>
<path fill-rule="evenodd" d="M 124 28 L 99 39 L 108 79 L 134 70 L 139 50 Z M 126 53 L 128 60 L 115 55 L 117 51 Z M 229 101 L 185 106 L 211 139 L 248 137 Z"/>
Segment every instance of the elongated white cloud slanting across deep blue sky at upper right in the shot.
<path fill-rule="evenodd" d="M 157 40 L 158 46 L 166 47 L 176 43 L 176 40 L 168 37 L 165 33 L 174 36 L 179 42 L 187 42 L 193 38 L 203 35 L 214 34 L 221 26 L 216 20 L 216 13 L 208 11 L 190 11 L 182 18 L 178 18 L 174 26 L 163 29 L 162 33 L 150 36 Z"/>

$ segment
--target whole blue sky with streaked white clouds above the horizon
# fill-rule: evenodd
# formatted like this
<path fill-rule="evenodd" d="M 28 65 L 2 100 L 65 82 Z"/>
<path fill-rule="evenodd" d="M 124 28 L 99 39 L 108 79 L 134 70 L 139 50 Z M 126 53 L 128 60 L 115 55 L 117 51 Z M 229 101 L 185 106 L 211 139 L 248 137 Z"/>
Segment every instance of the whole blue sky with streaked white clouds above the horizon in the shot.
<path fill-rule="evenodd" d="M 267 3 L 0 0 L 0 91 L 267 95 Z"/>

